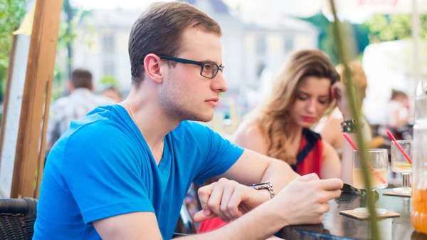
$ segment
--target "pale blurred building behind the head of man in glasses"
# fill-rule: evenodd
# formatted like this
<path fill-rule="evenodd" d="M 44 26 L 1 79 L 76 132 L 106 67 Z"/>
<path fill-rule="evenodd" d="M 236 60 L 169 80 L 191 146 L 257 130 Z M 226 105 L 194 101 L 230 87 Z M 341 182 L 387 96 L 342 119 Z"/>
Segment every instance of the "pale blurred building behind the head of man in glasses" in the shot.
<path fill-rule="evenodd" d="M 241 86 L 257 89 L 260 75 L 275 72 L 292 51 L 317 48 L 317 29 L 283 17 L 274 23 L 248 23 L 221 0 L 184 0 L 215 19 L 223 30 L 224 77 L 231 91 Z M 274 6 L 272 6 L 274 7 Z M 73 67 L 93 72 L 95 81 L 113 75 L 122 89 L 130 88 L 127 41 L 142 9 L 96 10 L 77 26 Z"/>

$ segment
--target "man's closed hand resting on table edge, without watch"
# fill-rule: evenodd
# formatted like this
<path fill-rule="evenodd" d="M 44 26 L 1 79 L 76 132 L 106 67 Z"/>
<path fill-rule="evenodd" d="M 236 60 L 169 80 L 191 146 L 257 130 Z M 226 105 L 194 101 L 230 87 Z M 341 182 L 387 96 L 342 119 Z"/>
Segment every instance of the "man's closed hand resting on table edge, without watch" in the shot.
<path fill-rule="evenodd" d="M 270 202 L 288 225 L 320 224 L 330 210 L 327 202 L 341 195 L 342 184 L 341 179 L 320 180 L 317 174 L 307 174 L 290 182 Z"/>

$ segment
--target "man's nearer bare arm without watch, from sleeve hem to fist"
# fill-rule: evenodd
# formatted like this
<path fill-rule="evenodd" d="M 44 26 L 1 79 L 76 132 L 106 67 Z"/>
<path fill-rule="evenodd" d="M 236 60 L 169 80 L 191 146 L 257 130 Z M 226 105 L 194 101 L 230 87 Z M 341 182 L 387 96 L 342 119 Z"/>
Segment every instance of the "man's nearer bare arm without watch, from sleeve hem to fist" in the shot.
<path fill-rule="evenodd" d="M 292 181 L 277 197 L 261 204 L 221 229 L 184 236 L 182 240 L 263 240 L 293 224 L 318 224 L 329 211 L 327 201 L 339 197 L 342 181 L 319 180 L 307 174 Z M 289 207 L 292 206 L 292 207 Z M 152 212 L 135 212 L 93 222 L 102 239 L 162 240 Z"/>

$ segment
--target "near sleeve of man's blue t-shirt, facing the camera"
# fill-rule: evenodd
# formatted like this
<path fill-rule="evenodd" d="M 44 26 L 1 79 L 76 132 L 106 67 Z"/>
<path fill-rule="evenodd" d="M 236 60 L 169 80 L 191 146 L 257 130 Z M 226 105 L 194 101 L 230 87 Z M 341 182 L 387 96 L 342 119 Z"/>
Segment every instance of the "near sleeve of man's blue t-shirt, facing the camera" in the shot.
<path fill-rule="evenodd" d="M 141 177 L 142 162 L 149 158 L 141 160 L 135 141 L 117 127 L 91 125 L 69 137 L 60 170 L 85 224 L 130 212 L 154 212 Z"/>

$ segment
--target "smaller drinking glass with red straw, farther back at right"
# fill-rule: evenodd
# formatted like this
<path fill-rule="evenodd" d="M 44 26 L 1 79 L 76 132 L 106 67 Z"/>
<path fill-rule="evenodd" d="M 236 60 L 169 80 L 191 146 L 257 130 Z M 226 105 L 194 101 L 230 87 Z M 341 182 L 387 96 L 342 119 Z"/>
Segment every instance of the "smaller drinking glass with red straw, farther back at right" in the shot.
<path fill-rule="evenodd" d="M 411 194 L 409 178 L 411 177 L 412 173 L 412 163 L 406 160 L 406 157 L 397 147 L 398 144 L 402 147 L 402 149 L 410 158 L 413 158 L 412 140 L 398 140 L 396 142 L 391 142 L 391 171 L 401 172 L 404 175 L 404 187 L 396 187 L 393 189 L 393 191 L 403 194 Z"/>

